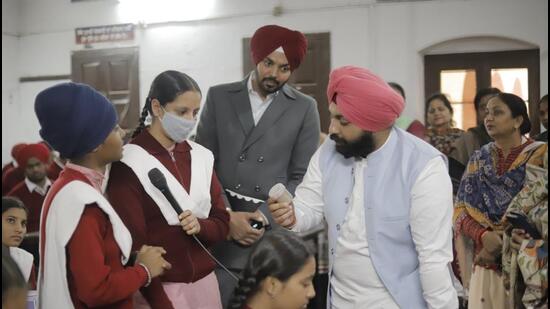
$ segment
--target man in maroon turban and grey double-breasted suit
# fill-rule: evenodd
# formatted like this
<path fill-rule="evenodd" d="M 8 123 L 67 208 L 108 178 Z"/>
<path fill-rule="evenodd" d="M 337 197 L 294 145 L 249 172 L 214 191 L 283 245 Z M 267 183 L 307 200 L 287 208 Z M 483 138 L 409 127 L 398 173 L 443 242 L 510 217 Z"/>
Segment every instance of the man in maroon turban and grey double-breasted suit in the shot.
<path fill-rule="evenodd" d="M 253 243 L 268 224 L 263 201 L 276 183 L 294 192 L 317 149 L 320 136 L 317 103 L 287 84 L 304 60 L 307 41 L 299 31 L 269 25 L 250 41 L 254 70 L 242 81 L 208 91 L 196 141 L 210 149 L 215 169 L 231 205 L 230 241 L 215 250 L 233 272 L 240 273 Z M 267 216 L 269 217 L 269 216 Z M 236 282 L 216 270 L 222 303 L 227 305 Z"/>

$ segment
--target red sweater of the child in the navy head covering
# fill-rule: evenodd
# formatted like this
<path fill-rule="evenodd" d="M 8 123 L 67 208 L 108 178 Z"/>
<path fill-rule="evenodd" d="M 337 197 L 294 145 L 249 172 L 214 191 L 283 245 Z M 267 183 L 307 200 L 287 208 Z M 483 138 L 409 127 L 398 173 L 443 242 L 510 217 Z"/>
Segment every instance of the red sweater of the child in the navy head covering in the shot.
<path fill-rule="evenodd" d="M 90 183 L 80 172 L 65 169 L 52 185 L 44 203 L 46 221 L 43 226 L 47 222 L 52 200 L 73 180 Z M 40 246 L 44 252 L 44 240 L 48 235 L 44 228 L 40 233 Z M 147 281 L 147 273 L 139 265 L 122 265 L 122 252 L 116 243 L 111 222 L 95 203 L 87 205 L 84 209 L 65 250 L 67 282 L 76 309 L 133 308 L 132 297 Z M 41 260 L 40 263 L 48 261 Z"/>

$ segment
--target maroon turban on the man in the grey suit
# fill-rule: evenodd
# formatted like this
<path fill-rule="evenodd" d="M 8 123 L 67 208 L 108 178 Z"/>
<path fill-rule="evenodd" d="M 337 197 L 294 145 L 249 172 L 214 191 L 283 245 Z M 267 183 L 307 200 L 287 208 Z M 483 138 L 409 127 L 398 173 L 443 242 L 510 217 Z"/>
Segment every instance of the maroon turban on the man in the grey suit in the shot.
<path fill-rule="evenodd" d="M 279 47 L 283 48 L 290 70 L 294 71 L 306 55 L 307 40 L 301 32 L 277 25 L 261 27 L 250 40 L 250 51 L 255 64 Z"/>

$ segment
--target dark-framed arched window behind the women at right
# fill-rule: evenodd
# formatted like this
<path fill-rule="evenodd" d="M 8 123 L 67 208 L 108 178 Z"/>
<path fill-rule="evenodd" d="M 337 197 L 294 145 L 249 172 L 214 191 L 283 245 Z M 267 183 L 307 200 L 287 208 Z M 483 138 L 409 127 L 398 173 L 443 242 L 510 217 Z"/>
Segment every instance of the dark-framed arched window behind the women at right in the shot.
<path fill-rule="evenodd" d="M 426 55 L 426 97 L 441 92 L 453 104 L 456 126 L 467 130 L 476 125 L 473 104 L 478 89 L 496 87 L 523 98 L 528 106 L 531 135 L 539 133 L 539 50 Z"/>

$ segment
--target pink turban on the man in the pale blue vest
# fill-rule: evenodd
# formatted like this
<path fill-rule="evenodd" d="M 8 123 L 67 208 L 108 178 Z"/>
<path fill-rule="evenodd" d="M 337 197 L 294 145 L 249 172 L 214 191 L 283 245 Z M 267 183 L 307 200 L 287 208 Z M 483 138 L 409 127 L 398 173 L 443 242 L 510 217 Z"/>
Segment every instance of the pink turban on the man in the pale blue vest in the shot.
<path fill-rule="evenodd" d="M 330 73 L 327 96 L 348 121 L 369 132 L 389 128 L 405 107 L 403 98 L 384 80 L 353 66 Z"/>

